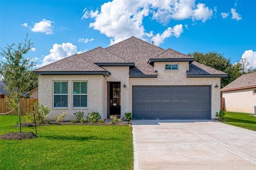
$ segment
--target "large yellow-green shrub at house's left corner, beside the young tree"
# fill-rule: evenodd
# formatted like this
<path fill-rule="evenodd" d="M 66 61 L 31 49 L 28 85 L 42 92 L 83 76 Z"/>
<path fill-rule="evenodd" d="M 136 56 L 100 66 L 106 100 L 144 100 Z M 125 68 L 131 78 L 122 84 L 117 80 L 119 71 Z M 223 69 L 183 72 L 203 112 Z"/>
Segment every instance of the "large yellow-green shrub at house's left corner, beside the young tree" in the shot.
<path fill-rule="evenodd" d="M 36 123 L 44 123 L 47 114 L 50 112 L 50 108 L 45 107 L 44 105 L 38 104 L 36 102 L 34 104 L 34 114 L 35 114 L 35 119 L 34 119 L 34 114 L 33 114 L 33 107 L 30 108 L 30 112 L 28 114 L 28 118 L 31 122 L 36 121 Z"/>

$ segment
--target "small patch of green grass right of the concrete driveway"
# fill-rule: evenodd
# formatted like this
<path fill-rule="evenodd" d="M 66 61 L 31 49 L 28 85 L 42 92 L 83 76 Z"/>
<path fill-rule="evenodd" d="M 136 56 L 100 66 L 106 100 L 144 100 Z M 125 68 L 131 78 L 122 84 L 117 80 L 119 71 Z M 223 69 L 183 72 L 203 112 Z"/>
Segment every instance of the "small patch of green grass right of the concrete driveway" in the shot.
<path fill-rule="evenodd" d="M 227 120 L 227 122 L 222 123 L 256 131 L 256 117 L 253 117 L 250 114 L 246 113 L 225 113 L 226 115 L 224 119 Z"/>

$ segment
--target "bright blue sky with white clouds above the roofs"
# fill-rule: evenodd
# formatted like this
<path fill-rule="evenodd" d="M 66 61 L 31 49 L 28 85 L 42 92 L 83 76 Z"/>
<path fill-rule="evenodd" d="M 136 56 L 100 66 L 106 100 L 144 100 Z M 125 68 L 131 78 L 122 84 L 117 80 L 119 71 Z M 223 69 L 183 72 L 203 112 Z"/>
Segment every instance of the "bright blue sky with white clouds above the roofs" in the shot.
<path fill-rule="evenodd" d="M 256 68 L 256 1 L 0 0 L 0 47 L 34 43 L 26 57 L 43 66 L 135 36 L 181 53 L 217 51 Z M 0 61 L 4 61 L 1 57 Z"/>

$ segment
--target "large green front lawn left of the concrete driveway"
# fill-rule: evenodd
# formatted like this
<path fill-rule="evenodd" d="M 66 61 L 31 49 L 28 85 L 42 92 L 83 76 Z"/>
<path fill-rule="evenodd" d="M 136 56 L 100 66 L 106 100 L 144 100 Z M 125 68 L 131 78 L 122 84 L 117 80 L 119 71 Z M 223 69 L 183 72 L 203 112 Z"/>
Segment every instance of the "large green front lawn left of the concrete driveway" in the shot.
<path fill-rule="evenodd" d="M 0 135 L 18 132 L 17 121 L 18 116 L 0 116 Z M 37 131 L 34 139 L 0 139 L 0 169 L 133 168 L 130 126 L 54 125 Z"/>

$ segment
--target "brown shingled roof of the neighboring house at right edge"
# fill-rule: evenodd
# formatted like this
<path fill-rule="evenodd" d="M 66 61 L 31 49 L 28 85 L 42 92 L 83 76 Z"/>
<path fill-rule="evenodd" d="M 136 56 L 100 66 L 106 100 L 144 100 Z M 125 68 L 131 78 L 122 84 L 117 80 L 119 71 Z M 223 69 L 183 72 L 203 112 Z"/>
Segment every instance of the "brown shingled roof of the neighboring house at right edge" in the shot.
<path fill-rule="evenodd" d="M 240 89 L 256 88 L 256 72 L 243 74 L 233 82 L 221 89 L 221 91 L 232 91 Z"/>

